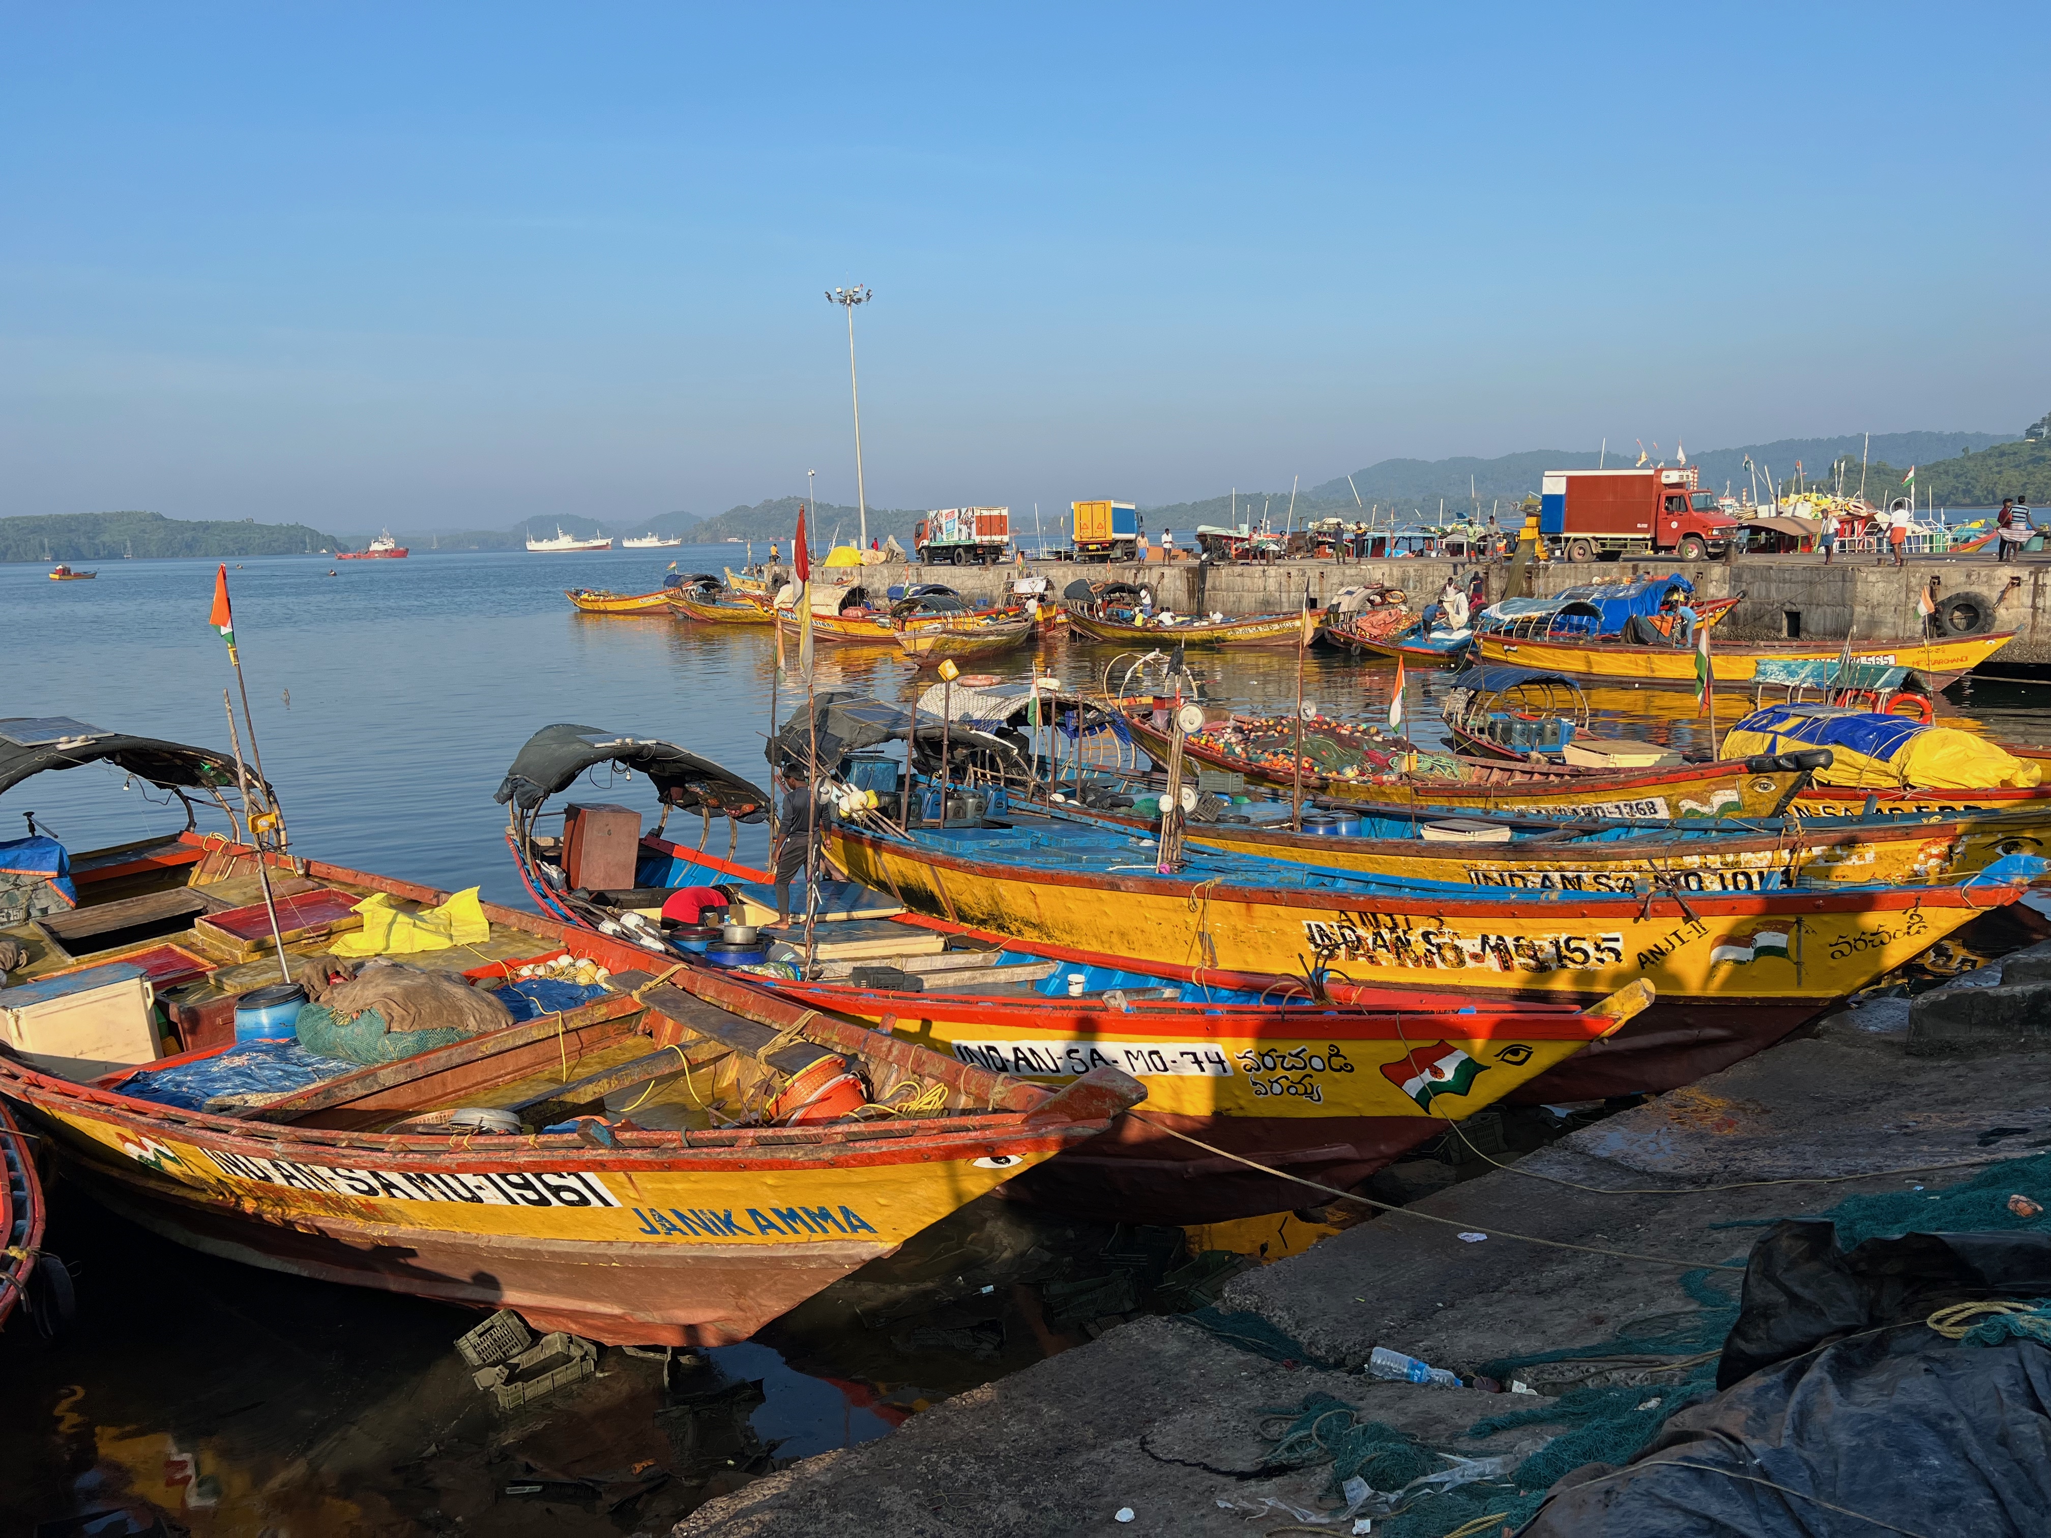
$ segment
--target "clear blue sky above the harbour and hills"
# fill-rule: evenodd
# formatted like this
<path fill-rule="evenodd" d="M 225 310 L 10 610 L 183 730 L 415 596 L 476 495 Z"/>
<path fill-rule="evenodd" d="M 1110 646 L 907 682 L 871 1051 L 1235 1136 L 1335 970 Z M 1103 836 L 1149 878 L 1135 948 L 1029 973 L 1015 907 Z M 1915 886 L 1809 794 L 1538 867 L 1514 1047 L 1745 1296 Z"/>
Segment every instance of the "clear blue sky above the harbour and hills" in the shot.
<path fill-rule="evenodd" d="M 2051 408 L 2037 33 L 6 0 L 0 517 L 511 527 L 806 470 L 853 502 L 825 289 L 857 283 L 876 507 L 2020 433 Z"/>

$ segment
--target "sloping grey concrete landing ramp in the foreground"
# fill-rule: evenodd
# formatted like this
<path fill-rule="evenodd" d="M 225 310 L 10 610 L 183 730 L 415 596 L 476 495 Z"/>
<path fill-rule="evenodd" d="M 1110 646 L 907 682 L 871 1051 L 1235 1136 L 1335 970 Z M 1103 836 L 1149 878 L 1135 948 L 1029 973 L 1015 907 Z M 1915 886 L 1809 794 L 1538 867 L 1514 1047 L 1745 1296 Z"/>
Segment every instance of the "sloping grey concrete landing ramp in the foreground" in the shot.
<path fill-rule="evenodd" d="M 1973 978 L 1994 980 L 1992 968 Z M 1754 1232 L 1713 1224 L 1815 1214 L 1903 1185 L 1934 1191 L 2051 1140 L 2051 1052 L 2004 1044 L 1971 1060 L 1914 1056 L 1899 1005 L 1840 1011 L 1803 1040 L 1233 1282 L 1222 1308 L 1261 1314 L 1339 1370 L 1270 1362 L 1179 1319 L 1140 1319 L 937 1405 L 882 1442 L 761 1479 L 695 1511 L 675 1538 L 1245 1538 L 1288 1517 L 1249 1524 L 1220 1509 L 1220 1495 L 1327 1505 L 1327 1472 L 1263 1472 L 1257 1433 L 1265 1409 L 1317 1390 L 1466 1456 L 1530 1446 L 1530 1427 L 1495 1442 L 1462 1433 L 1536 1401 L 1386 1384 L 1360 1364 L 1389 1345 L 1471 1372 L 1499 1355 L 1604 1341 L 1631 1321 L 1694 1308 L 1678 1284 L 1686 1265 L 1743 1257 Z"/>

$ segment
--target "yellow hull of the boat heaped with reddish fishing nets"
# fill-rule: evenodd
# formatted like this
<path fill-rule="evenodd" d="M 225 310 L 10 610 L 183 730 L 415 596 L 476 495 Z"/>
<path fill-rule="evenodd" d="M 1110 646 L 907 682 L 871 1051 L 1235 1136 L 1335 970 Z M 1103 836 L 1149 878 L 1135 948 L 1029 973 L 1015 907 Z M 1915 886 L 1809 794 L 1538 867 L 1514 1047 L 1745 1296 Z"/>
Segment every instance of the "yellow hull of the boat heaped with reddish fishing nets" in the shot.
<path fill-rule="evenodd" d="M 1134 705 L 1126 728 L 1157 763 L 1167 763 L 1169 734 Z M 1208 728 L 1206 728 L 1208 730 Z M 1210 769 L 1241 773 L 1278 792 L 1292 792 L 1288 765 L 1265 765 L 1222 753 L 1202 736 L 1188 736 L 1183 753 Z M 1809 783 L 1815 755 L 1776 755 L 1680 763 L 1653 769 L 1596 773 L 1565 765 L 1487 763 L 1460 765 L 1458 779 L 1432 775 L 1325 775 L 1304 769 L 1304 796 L 1362 806 L 1434 806 L 1477 812 L 1540 812 L 1577 818 L 1708 818 L 1778 816 Z"/>

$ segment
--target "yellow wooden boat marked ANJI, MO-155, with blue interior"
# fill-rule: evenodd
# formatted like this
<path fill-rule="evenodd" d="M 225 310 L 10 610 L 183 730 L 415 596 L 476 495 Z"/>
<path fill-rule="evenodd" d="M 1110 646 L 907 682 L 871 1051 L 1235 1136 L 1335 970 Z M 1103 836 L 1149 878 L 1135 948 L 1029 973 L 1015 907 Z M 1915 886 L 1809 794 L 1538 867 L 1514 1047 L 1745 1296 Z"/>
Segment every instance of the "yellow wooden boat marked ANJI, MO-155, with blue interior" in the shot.
<path fill-rule="evenodd" d="M 1645 980 L 1657 1001 L 1544 1077 L 1553 1099 L 1674 1089 L 1778 1040 L 2022 886 L 1602 896 L 1374 886 L 1192 851 L 1159 874 L 1147 841 L 962 828 L 904 839 L 835 824 L 833 863 L 919 915 L 1028 947 L 1194 966 L 1198 976 L 1333 968 L 1352 984 L 1481 1005 L 1592 1005 Z M 1345 986 L 1329 984 L 1333 997 Z"/>

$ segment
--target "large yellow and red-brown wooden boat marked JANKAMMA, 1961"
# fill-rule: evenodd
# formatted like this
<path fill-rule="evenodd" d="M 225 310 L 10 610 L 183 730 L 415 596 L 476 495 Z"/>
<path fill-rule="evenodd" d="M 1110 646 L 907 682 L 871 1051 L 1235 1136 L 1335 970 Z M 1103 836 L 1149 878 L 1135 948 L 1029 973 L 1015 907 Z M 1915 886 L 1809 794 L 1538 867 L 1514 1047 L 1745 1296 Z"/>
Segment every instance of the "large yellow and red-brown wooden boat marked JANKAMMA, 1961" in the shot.
<path fill-rule="evenodd" d="M 98 761 L 189 810 L 275 826 L 265 787 L 224 800 L 238 773 L 224 755 L 0 722 L 0 790 Z M 691 783 L 644 767 L 665 796 Z M 64 880 L 72 900 L 6 931 L 29 947 L 14 993 L 90 1001 L 94 1029 L 39 1017 L 33 1040 L 0 1046 L 0 1095 L 70 1181 L 217 1257 L 515 1308 L 603 1343 L 745 1339 L 1144 1095 L 1116 1068 L 1058 1089 L 1007 1079 L 474 888 L 232 833 L 80 853 Z M 402 931 L 404 968 L 336 980 Z M 332 1009 L 279 984 L 273 933 Z M 357 1013 L 361 995 L 343 993 L 400 972 L 423 1009 L 410 1034 L 384 1029 L 390 995 Z M 152 993 L 178 1038 L 170 1056 Z M 443 1009 L 451 997 L 459 1011 Z M 248 1040 L 279 1034 L 293 1040 Z M 628 1103 L 632 1118 L 609 1109 Z"/>

